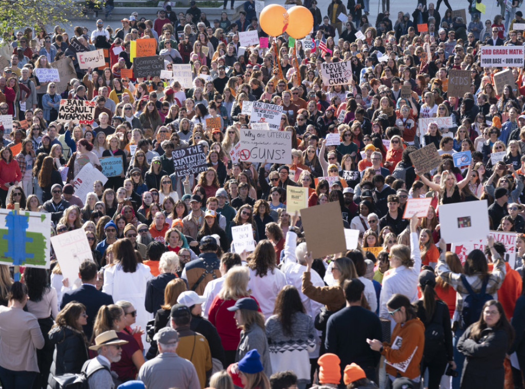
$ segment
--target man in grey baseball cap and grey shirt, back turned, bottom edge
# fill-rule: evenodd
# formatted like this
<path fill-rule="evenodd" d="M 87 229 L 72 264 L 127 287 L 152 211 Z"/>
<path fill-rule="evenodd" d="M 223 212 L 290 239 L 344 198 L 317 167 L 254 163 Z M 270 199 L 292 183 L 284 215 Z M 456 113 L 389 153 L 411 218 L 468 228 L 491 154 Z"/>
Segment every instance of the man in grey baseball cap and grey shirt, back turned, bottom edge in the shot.
<path fill-rule="evenodd" d="M 138 380 L 148 388 L 200 389 L 201 383 L 195 366 L 177 354 L 177 331 L 171 327 L 164 327 L 155 334 L 153 340 L 157 342 L 159 355 L 142 365 Z"/>

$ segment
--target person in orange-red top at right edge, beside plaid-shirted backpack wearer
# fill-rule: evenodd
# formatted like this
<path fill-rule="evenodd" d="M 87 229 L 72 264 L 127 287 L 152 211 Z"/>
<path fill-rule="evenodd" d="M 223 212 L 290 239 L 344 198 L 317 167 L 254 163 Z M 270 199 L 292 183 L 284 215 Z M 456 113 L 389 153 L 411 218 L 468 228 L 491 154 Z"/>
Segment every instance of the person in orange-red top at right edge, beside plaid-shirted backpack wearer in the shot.
<path fill-rule="evenodd" d="M 503 311 L 505 315 L 510 320 L 514 314 L 514 306 L 516 305 L 516 300 L 521 295 L 521 276 L 520 274 L 511 268 L 506 256 L 505 245 L 501 242 L 494 242 L 494 248 L 501 256 L 505 259 L 505 279 L 501 284 L 501 288 L 498 289 L 498 301 L 503 306 Z M 487 254 L 488 252 L 488 254 Z M 485 255 L 487 255 L 487 261 L 489 262 L 488 267 L 489 271 L 492 271 L 494 264 L 492 263 L 492 255 L 490 254 L 490 249 L 488 246 L 485 247 Z"/>

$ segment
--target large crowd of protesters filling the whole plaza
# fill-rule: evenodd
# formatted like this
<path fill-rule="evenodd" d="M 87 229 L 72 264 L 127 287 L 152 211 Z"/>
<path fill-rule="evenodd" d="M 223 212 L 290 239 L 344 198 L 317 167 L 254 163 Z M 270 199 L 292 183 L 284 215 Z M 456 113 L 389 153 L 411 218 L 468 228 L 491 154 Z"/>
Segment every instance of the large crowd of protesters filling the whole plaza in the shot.
<path fill-rule="evenodd" d="M 0 207 L 50 213 L 53 235 L 85 231 L 92 258 L 79 280 L 53 250 L 49 270 L 22 267 L 21 281 L 0 265 L 2 387 L 55 389 L 75 374 L 90 389 L 523 388 L 525 75 L 510 68 L 500 88 L 503 68 L 480 66 L 482 45 L 523 45 L 521 3 L 483 22 L 469 2 L 468 22 L 447 0 L 395 20 L 383 0 L 375 21 L 369 0 L 333 0 L 326 16 L 316 0 L 288 2 L 312 12 L 314 49 L 286 33 L 241 46 L 239 32 L 268 36 L 253 0 L 236 21 L 227 0 L 214 21 L 192 1 L 116 30 L 99 19 L 71 37 L 3 36 L 0 118 L 13 120 L 0 125 Z M 143 38 L 165 70 L 191 65 L 191 87 L 123 76 Z M 107 49 L 107 66 L 81 68 L 73 39 Z M 38 79 L 60 60 L 71 79 Z M 322 64 L 347 60 L 349 83 L 325 85 Z M 447 93 L 453 69 L 471 73 L 462 96 Z M 58 121 L 61 99 L 95 101 L 95 120 Z M 290 163 L 233 163 L 246 101 L 282 106 Z M 430 144 L 440 162 L 423 173 L 409 155 Z M 207 168 L 177 177 L 173 152 L 192 145 Z M 456 166 L 459 151 L 471 163 Z M 106 157 L 122 174 L 78 197 L 75 177 Z M 289 186 L 308 188 L 308 207 L 337 203 L 358 247 L 312 258 Z M 418 198 L 432 199 L 426 217 L 404 219 Z M 465 258 L 440 237 L 439 206 L 479 200 L 491 230 L 516 234 L 514 263 L 492 236 Z M 236 253 L 244 224 L 255 250 Z"/>

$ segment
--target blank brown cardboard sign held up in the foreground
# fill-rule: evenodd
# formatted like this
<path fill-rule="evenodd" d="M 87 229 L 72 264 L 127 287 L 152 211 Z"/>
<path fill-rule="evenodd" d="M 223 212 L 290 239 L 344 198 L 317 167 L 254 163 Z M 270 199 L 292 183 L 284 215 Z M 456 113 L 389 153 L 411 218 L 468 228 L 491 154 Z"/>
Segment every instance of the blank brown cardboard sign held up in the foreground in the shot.
<path fill-rule="evenodd" d="M 301 210 L 301 221 L 308 251 L 313 258 L 346 251 L 341 208 L 337 202 L 329 202 Z"/>

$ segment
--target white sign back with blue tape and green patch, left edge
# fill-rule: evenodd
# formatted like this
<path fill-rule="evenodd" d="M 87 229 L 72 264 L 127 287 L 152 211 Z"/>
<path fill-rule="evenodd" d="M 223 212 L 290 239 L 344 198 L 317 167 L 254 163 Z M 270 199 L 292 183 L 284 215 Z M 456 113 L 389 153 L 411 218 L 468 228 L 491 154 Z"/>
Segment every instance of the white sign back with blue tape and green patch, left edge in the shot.
<path fill-rule="evenodd" d="M 0 263 L 49 269 L 50 227 L 51 213 L 0 209 Z"/>

